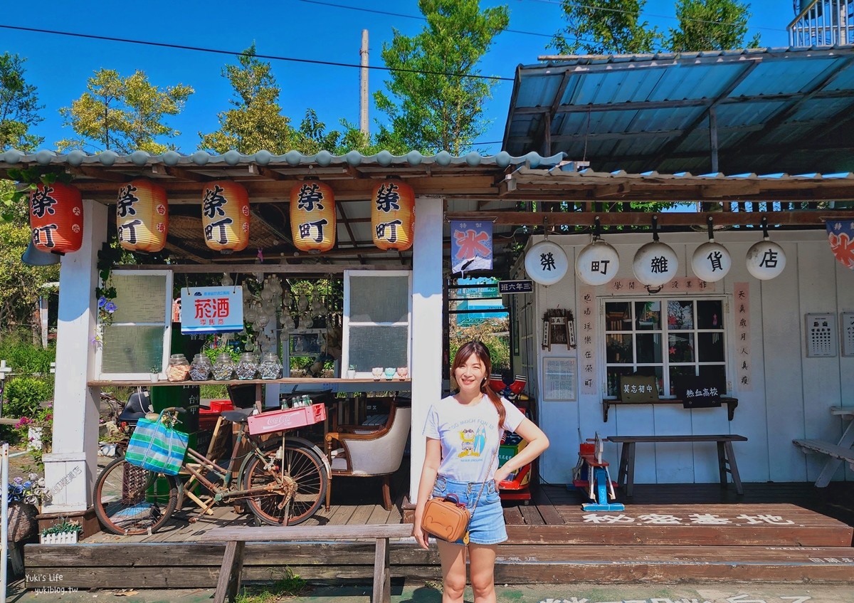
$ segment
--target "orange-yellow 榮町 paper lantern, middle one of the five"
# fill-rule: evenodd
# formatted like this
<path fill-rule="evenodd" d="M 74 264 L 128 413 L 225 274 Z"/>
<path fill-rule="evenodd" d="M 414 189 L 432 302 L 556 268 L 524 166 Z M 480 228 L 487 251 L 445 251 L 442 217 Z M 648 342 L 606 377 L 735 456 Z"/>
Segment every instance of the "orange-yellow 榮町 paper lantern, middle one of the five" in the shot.
<path fill-rule="evenodd" d="M 249 193 L 231 180 L 215 180 L 202 190 L 202 225 L 210 249 L 230 254 L 249 244 Z"/>

